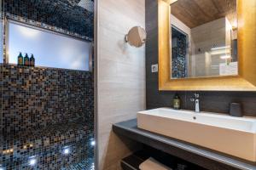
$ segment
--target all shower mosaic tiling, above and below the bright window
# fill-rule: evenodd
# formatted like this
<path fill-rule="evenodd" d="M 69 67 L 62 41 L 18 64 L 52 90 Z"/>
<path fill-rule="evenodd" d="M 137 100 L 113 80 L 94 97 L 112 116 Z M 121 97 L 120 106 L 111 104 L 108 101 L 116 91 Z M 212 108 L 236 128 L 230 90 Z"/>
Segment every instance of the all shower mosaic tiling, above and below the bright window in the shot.
<path fill-rule="evenodd" d="M 93 12 L 78 3 L 5 0 L 3 14 L 92 40 Z M 61 169 L 94 158 L 92 72 L 7 64 L 0 64 L 0 71 L 0 167 Z M 71 152 L 68 156 L 63 154 L 66 147 Z M 33 156 L 36 167 L 29 165 Z"/>

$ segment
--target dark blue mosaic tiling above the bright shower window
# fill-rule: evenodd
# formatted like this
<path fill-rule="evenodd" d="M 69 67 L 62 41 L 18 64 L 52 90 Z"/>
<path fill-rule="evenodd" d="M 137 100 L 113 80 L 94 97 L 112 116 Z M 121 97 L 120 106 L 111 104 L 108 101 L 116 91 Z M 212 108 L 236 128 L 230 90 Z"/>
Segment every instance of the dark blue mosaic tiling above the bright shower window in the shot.
<path fill-rule="evenodd" d="M 33 26 L 92 40 L 93 1 L 4 0 L 4 14 Z"/>

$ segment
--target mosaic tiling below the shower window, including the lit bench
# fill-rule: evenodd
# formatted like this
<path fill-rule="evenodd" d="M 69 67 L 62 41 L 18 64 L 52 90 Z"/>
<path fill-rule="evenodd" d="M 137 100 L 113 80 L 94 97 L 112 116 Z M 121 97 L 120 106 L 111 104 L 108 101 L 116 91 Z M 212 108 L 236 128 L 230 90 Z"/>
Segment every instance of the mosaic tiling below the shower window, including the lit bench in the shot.
<path fill-rule="evenodd" d="M 93 159 L 91 72 L 16 65 L 0 68 L 0 167 L 61 169 Z M 32 165 L 33 161 L 37 163 Z"/>

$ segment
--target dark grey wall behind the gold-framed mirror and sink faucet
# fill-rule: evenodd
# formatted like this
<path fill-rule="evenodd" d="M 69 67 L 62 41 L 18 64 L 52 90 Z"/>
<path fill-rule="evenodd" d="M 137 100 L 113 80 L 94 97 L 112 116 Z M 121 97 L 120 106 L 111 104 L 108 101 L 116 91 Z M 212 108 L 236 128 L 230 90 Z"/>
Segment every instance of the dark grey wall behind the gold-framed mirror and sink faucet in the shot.
<path fill-rule="evenodd" d="M 151 65 L 158 64 L 158 6 L 157 1 L 146 1 L 146 98 L 147 109 L 172 107 L 172 98 L 176 92 L 159 91 L 158 73 L 151 72 Z M 182 108 L 195 110 L 190 101 L 194 92 L 178 92 L 182 99 Z M 247 116 L 256 116 L 256 93 L 253 92 L 201 92 L 201 111 L 229 113 L 231 102 L 240 102 Z"/>

